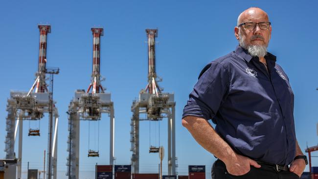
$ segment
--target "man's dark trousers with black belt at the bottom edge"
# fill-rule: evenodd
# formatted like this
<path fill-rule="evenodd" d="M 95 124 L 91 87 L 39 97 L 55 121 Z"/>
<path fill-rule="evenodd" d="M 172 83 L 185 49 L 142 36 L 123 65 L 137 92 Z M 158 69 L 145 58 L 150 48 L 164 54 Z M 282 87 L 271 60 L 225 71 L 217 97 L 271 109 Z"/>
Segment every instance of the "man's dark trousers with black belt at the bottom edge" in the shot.
<path fill-rule="evenodd" d="M 234 176 L 227 172 L 223 161 L 216 160 L 212 165 L 212 179 L 299 179 L 298 175 L 290 171 L 277 171 L 274 167 L 261 165 L 261 168 L 250 166 L 250 172 L 241 176 Z"/>

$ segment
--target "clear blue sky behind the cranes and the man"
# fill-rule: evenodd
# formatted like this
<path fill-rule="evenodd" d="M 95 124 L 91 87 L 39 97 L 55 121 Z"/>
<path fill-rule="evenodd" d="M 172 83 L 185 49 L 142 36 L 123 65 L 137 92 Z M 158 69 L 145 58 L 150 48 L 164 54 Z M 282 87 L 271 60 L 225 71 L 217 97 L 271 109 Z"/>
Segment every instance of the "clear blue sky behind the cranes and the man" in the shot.
<path fill-rule="evenodd" d="M 206 165 L 209 176 L 215 158 L 182 127 L 182 109 L 201 69 L 213 59 L 235 49 L 237 41 L 233 29 L 237 16 L 250 6 L 263 8 L 270 16 L 273 32 L 269 51 L 277 56 L 277 63 L 289 75 L 295 93 L 295 128 L 300 147 L 304 152 L 306 143 L 308 146 L 317 145 L 318 36 L 315 30 L 318 29 L 318 3 L 315 0 L 1 1 L 1 141 L 4 141 L 6 134 L 5 108 L 9 92 L 28 90 L 33 84 L 39 53 L 37 24 L 49 23 L 52 30 L 48 35 L 47 66 L 60 67 L 61 70 L 54 78 L 54 98 L 60 113 L 58 176 L 59 179 L 66 179 L 66 111 L 74 90 L 88 88 L 92 61 L 90 29 L 92 26 L 102 26 L 101 74 L 106 77 L 103 86 L 112 92 L 114 101 L 115 163 L 129 164 L 130 107 L 139 90 L 147 83 L 145 29 L 158 28 L 156 71 L 163 78 L 159 85 L 165 92 L 174 92 L 177 103 L 178 172 L 186 175 L 187 165 Z M 81 123 L 81 179 L 94 178 L 96 162 L 109 164 L 109 117 L 103 116 L 99 125 L 100 157 L 88 158 L 87 122 Z M 152 129 L 157 127 L 159 131 L 159 124 L 151 125 Z M 27 161 L 30 168 L 43 169 L 43 151 L 47 148 L 47 116 L 41 120 L 41 137 L 28 137 L 28 126 L 29 122 L 24 122 L 23 172 L 26 172 Z M 153 137 L 152 142 L 158 143 L 159 133 L 149 134 L 149 122 L 141 122 L 140 129 L 140 172 L 155 173 L 158 171 L 159 157 L 158 154 L 148 153 L 149 135 Z M 94 142 L 91 139 L 91 145 Z M 166 147 L 166 143 L 167 121 L 163 120 L 160 122 L 160 145 Z M 3 149 L 4 142 L 0 142 L 0 158 L 5 157 Z M 313 158 L 313 165 L 318 166 L 317 158 Z M 166 174 L 166 158 L 163 166 Z"/>

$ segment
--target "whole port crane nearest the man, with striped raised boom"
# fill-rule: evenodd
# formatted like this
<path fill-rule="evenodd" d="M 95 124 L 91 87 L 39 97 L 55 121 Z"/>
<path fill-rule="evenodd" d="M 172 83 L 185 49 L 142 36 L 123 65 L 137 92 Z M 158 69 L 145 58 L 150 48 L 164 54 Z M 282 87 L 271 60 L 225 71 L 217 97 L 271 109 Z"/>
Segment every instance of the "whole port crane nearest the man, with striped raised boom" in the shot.
<path fill-rule="evenodd" d="M 139 99 L 133 101 L 131 111 L 131 165 L 132 173 L 139 173 L 139 121 L 160 121 L 167 118 L 168 124 L 168 175 L 176 175 L 176 133 L 175 106 L 173 93 L 163 93 L 158 82 L 162 81 L 156 74 L 155 44 L 158 29 L 146 29 L 148 38 L 148 84 L 139 92 Z M 142 119 L 139 114 L 146 114 Z M 159 146 L 150 146 L 149 153 L 158 153 Z"/>

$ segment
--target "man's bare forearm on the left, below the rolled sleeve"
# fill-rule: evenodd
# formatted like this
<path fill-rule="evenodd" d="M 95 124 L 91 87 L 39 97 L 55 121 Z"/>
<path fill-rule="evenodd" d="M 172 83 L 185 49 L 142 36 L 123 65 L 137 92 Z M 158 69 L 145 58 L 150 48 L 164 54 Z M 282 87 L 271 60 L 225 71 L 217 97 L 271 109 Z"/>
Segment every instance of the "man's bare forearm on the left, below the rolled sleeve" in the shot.
<path fill-rule="evenodd" d="M 196 116 L 186 116 L 182 125 L 192 134 L 193 138 L 208 152 L 222 161 L 235 157 L 235 152 L 225 142 L 213 127 L 204 119 Z"/>

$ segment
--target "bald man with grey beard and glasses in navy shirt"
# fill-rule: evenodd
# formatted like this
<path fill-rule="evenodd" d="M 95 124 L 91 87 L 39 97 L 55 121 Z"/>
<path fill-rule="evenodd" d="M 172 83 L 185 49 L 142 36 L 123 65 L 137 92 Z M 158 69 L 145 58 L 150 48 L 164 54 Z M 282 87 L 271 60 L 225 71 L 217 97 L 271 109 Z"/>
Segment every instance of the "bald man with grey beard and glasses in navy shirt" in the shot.
<path fill-rule="evenodd" d="M 267 52 L 271 33 L 262 9 L 242 12 L 234 28 L 239 45 L 204 67 L 184 107 L 182 125 L 218 158 L 212 179 L 299 179 L 307 164 L 289 79 Z"/>

